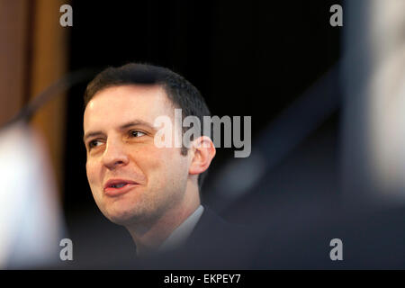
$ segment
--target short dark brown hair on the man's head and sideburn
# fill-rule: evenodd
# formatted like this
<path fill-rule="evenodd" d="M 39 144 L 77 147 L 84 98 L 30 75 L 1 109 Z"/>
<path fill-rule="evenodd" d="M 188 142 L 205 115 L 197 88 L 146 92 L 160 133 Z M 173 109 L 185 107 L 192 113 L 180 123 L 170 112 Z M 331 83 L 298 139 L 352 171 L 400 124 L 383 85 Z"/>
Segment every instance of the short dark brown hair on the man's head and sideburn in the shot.
<path fill-rule="evenodd" d="M 166 67 L 150 64 L 129 63 L 121 67 L 107 67 L 87 85 L 85 107 L 97 92 L 111 86 L 120 85 L 161 85 L 168 99 L 176 108 L 182 109 L 183 119 L 196 116 L 203 125 L 203 116 L 211 116 L 202 94 L 183 76 Z M 183 129 L 183 133 L 187 128 Z M 202 129 L 203 131 L 203 126 Z M 207 135 L 211 137 L 211 135 Z M 212 139 L 212 137 L 211 137 Z M 186 156 L 188 148 L 182 147 L 181 154 Z M 198 177 L 200 191 L 208 169 Z"/>

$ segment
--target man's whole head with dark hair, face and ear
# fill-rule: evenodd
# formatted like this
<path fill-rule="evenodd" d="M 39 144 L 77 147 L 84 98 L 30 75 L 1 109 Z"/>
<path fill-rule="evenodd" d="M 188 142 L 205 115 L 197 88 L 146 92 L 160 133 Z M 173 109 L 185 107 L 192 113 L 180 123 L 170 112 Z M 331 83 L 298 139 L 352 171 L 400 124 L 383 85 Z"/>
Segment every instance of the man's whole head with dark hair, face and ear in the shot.
<path fill-rule="evenodd" d="M 174 122 L 175 108 L 201 122 L 210 115 L 198 90 L 163 67 L 107 68 L 87 85 L 87 177 L 95 202 L 110 220 L 123 225 L 153 220 L 190 201 L 191 185 L 201 187 L 215 155 L 212 143 L 211 148 L 157 148 L 154 142 L 155 120 L 167 116 Z M 203 136 L 192 140 L 211 142 Z"/>

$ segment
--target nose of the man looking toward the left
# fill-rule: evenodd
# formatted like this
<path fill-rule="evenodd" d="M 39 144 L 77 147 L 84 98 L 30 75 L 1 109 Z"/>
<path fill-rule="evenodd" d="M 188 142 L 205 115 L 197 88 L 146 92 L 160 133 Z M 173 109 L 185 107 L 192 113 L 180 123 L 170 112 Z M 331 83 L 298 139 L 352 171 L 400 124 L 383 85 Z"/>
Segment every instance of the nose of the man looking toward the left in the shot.
<path fill-rule="evenodd" d="M 126 166 L 128 162 L 129 157 L 123 143 L 119 140 L 108 139 L 103 152 L 103 165 L 110 170 L 114 170 L 117 167 Z"/>

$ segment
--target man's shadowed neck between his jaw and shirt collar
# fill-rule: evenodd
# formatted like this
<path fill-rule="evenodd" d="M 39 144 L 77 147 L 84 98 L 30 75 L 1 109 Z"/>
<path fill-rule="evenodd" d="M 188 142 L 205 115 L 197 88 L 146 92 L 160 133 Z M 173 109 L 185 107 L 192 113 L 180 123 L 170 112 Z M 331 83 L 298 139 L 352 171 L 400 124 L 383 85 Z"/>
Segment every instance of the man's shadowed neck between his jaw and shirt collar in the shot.
<path fill-rule="evenodd" d="M 200 206 L 198 188 L 192 189 L 188 186 L 187 188 L 190 189 L 186 189 L 182 201 L 166 210 L 157 219 L 148 223 L 126 226 L 135 242 L 139 256 L 156 251 L 166 238 Z"/>

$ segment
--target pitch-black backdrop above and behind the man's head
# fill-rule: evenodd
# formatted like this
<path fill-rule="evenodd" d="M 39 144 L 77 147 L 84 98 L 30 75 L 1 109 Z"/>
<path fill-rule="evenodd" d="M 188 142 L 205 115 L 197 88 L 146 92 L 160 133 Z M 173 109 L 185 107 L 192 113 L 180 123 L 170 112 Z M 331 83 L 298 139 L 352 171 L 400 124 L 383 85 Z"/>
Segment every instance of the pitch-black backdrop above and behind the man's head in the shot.
<path fill-rule="evenodd" d="M 337 65 L 340 28 L 329 25 L 331 4 L 75 1 L 70 70 L 131 61 L 169 67 L 202 92 L 213 115 L 252 116 L 255 139 Z M 67 211 L 94 206 L 85 179 L 84 91 L 77 85 L 67 98 Z M 335 113 L 328 128 L 337 123 Z M 218 149 L 210 175 L 233 151 Z"/>

